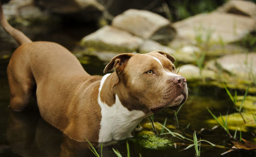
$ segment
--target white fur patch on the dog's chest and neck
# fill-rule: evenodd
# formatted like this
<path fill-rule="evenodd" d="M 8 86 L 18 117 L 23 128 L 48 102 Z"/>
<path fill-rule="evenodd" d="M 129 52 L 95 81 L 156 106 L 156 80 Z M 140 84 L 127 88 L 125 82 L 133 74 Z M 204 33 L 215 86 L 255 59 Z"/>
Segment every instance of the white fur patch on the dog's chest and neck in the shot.
<path fill-rule="evenodd" d="M 132 132 L 138 123 L 146 116 L 144 112 L 133 110 L 129 111 L 121 104 L 116 95 L 116 102 L 109 107 L 100 99 L 100 91 L 110 74 L 102 77 L 99 87 L 98 103 L 101 107 L 101 122 L 99 131 L 99 142 L 111 140 L 123 140 L 132 137 Z"/>

